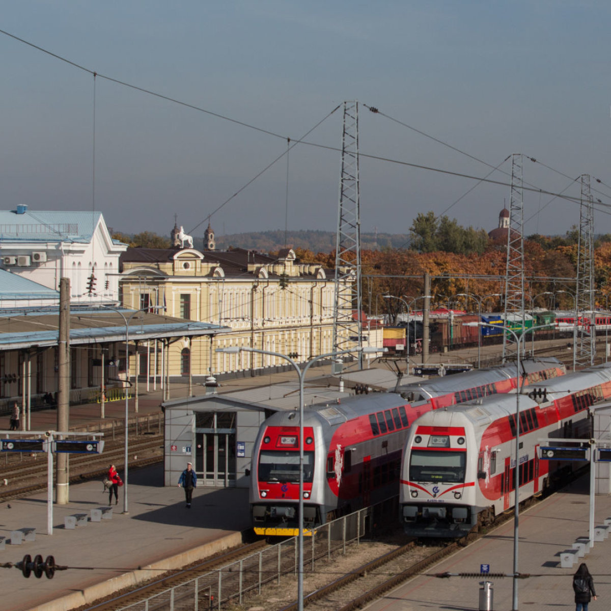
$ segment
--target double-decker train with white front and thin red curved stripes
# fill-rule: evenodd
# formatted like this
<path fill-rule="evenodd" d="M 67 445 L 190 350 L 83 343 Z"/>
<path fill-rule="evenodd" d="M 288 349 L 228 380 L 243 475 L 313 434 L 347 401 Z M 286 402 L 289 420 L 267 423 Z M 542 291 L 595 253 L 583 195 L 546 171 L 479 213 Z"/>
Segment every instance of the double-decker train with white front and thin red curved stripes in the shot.
<path fill-rule="evenodd" d="M 589 437 L 588 408 L 611 397 L 611 365 L 548 381 L 536 395 L 519 396 L 520 502 L 558 467 L 539 460 L 542 438 Z M 401 466 L 406 533 L 461 537 L 514 507 L 517 402 L 514 393 L 486 397 L 412 423 Z"/>

